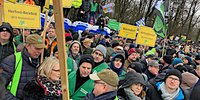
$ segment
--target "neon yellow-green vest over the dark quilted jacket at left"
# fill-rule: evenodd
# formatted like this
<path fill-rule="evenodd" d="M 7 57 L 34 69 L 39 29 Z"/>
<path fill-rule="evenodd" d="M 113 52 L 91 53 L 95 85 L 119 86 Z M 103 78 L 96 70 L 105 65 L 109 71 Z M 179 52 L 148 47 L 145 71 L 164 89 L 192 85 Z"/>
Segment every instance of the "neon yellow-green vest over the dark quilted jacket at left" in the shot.
<path fill-rule="evenodd" d="M 10 92 L 14 96 L 16 96 L 17 88 L 18 88 L 19 80 L 21 76 L 21 71 L 22 71 L 22 53 L 18 52 L 18 53 L 15 53 L 14 55 L 15 55 L 15 72 L 14 72 L 11 82 L 7 86 L 7 89 L 10 90 Z"/>

